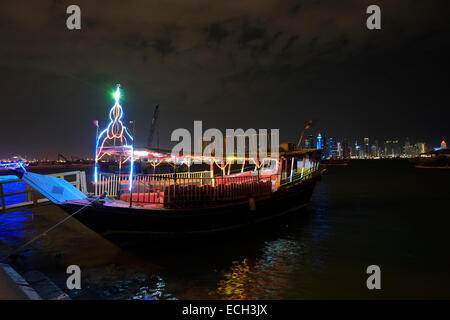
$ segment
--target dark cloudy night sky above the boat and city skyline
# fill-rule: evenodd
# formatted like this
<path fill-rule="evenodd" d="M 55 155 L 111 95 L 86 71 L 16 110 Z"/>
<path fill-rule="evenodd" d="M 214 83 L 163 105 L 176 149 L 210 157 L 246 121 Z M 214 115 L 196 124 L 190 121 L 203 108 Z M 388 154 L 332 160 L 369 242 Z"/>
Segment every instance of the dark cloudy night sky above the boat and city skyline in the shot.
<path fill-rule="evenodd" d="M 446 1 L 130 2 L 2 1 L 0 158 L 93 156 L 116 83 L 138 146 L 156 104 L 166 148 L 194 120 L 293 142 L 309 119 L 338 139 L 450 140 Z"/>

